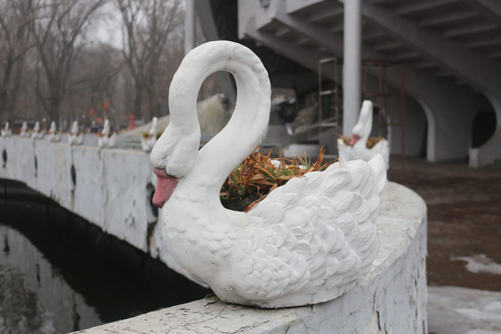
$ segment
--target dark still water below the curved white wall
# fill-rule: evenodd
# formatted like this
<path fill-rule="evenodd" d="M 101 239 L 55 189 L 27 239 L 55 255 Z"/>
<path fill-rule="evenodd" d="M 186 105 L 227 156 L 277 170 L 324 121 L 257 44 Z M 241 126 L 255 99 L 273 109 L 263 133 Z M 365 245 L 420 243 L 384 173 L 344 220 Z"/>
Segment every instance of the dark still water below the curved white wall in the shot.
<path fill-rule="evenodd" d="M 210 293 L 48 200 L 2 195 L 2 334 L 67 333 Z"/>

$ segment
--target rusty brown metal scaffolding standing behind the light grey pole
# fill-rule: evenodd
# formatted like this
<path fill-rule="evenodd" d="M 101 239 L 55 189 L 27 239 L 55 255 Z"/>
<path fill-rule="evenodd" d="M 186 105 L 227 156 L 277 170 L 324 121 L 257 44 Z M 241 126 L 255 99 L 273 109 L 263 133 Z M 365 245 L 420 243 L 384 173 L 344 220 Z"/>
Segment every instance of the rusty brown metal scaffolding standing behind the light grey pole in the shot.
<path fill-rule="evenodd" d="M 323 75 L 322 67 L 326 64 L 334 65 L 334 88 L 329 90 L 323 90 Z M 323 128 L 326 127 L 326 122 L 324 122 L 327 116 L 327 124 L 335 124 L 335 133 L 338 137 L 342 135 L 340 129 L 342 129 L 343 123 L 341 120 L 341 106 L 340 97 L 343 96 L 343 86 L 342 82 L 339 80 L 339 66 L 343 65 L 343 59 L 337 57 L 324 58 L 318 61 L 318 110 L 319 110 L 319 141 L 322 146 L 325 142 L 323 140 Z M 390 91 L 388 89 L 388 78 L 387 70 L 389 67 L 399 67 L 400 68 L 400 84 L 396 90 Z M 381 60 L 362 60 L 363 68 L 363 88 L 362 97 L 365 98 L 378 98 L 378 126 L 379 133 L 382 137 L 388 139 L 388 127 L 390 126 L 400 126 L 401 127 L 401 154 L 402 154 L 402 172 L 405 171 L 405 87 L 404 87 L 404 65 L 399 62 L 393 61 L 381 61 Z M 375 69 L 374 69 L 375 68 Z M 373 69 L 373 70 L 371 70 Z M 367 72 L 371 74 L 376 74 L 378 80 L 378 90 L 369 91 L 367 88 Z M 334 96 L 334 103 L 330 104 L 327 115 L 323 112 L 322 108 L 322 98 L 327 95 Z M 387 114 L 387 99 L 390 96 L 400 97 L 400 122 L 388 123 Z M 334 122 L 332 122 L 334 121 Z"/>

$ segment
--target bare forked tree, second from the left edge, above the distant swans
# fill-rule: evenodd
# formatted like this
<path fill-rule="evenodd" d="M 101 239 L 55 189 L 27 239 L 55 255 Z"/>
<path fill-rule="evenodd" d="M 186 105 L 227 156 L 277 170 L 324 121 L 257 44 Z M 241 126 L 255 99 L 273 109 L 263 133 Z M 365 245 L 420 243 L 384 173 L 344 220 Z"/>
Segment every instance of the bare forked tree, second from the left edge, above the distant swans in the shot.
<path fill-rule="evenodd" d="M 59 121 L 74 61 L 81 51 L 85 33 L 106 0 L 46 0 L 31 31 L 45 74 L 47 89 L 36 87 L 37 95 L 51 121 Z"/>

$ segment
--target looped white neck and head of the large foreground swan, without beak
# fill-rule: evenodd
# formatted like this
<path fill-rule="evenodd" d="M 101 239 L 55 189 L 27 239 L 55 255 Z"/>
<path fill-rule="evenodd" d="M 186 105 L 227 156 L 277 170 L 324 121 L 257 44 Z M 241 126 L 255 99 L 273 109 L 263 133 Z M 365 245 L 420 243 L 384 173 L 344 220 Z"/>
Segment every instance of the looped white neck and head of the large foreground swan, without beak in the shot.
<path fill-rule="evenodd" d="M 198 151 L 197 95 L 205 78 L 217 71 L 230 72 L 235 78 L 236 107 L 224 129 Z M 172 79 L 170 122 L 152 151 L 153 167 L 165 168 L 176 177 L 185 176 L 193 184 L 196 179 L 218 200 L 225 178 L 262 140 L 270 117 L 270 95 L 268 73 L 246 47 L 218 41 L 193 49 Z"/>

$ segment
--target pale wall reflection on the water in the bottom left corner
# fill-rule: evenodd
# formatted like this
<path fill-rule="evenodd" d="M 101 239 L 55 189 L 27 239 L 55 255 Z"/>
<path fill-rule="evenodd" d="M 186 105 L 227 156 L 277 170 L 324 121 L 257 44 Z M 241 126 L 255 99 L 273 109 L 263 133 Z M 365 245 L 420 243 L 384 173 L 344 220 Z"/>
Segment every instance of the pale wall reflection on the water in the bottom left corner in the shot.
<path fill-rule="evenodd" d="M 0 226 L 0 333 L 66 333 L 103 323 L 28 238 Z"/>

